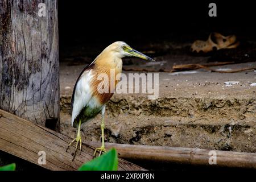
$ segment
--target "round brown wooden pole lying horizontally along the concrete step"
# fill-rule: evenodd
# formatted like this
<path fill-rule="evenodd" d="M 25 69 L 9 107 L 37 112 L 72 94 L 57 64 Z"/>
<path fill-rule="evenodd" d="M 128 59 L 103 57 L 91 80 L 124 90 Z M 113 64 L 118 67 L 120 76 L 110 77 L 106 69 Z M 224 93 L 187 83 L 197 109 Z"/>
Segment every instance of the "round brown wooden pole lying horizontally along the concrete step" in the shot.
<path fill-rule="evenodd" d="M 100 143 L 86 142 L 90 146 L 99 147 Z M 209 152 L 216 152 L 217 166 L 256 169 L 256 154 L 220 150 L 204 150 L 200 148 L 139 146 L 130 144 L 105 143 L 106 148 L 116 148 L 123 159 L 151 160 L 154 162 L 209 165 Z"/>

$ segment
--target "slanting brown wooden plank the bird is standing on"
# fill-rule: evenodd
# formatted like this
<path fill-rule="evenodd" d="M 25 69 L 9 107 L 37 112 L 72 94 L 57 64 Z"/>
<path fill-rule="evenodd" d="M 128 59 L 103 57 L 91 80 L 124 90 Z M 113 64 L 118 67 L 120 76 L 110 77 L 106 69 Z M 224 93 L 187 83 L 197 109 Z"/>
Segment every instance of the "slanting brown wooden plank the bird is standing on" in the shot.
<path fill-rule="evenodd" d="M 0 110 L 0 150 L 38 164 L 38 152 L 46 152 L 46 164 L 40 165 L 51 170 L 77 170 L 83 163 L 92 160 L 94 148 L 82 144 L 81 154 L 72 162 L 71 138 L 43 126 Z M 144 170 L 135 164 L 119 159 L 118 170 Z"/>

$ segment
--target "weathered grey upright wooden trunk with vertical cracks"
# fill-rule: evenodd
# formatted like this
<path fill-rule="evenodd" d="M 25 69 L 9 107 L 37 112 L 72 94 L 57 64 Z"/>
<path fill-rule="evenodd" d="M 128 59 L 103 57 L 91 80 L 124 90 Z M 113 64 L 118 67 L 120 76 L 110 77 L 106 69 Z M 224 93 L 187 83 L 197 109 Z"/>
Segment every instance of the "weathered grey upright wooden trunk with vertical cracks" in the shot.
<path fill-rule="evenodd" d="M 0 108 L 56 131 L 58 39 L 56 0 L 0 0 Z"/>

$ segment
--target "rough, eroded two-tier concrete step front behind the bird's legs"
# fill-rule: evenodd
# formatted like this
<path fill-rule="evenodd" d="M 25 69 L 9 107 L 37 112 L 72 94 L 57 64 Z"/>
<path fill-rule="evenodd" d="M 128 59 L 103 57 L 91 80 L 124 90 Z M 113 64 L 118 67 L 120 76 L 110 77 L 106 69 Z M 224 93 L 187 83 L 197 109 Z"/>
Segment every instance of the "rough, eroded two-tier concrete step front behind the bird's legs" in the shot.
<path fill-rule="evenodd" d="M 62 131 L 75 137 L 62 97 Z M 114 96 L 106 109 L 106 140 L 113 143 L 256 152 L 255 98 Z M 85 140 L 100 141 L 100 115 L 86 123 Z M 71 130 L 72 133 L 67 133 Z"/>

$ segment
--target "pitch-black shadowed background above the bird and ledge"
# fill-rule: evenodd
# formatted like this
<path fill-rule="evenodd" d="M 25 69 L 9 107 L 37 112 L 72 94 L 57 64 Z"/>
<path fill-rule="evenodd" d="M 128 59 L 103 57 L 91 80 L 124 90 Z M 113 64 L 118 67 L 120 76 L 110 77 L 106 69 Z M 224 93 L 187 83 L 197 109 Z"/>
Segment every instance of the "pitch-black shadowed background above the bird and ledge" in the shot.
<path fill-rule="evenodd" d="M 208 16 L 210 2 L 217 17 Z M 70 47 L 97 55 L 117 40 L 133 47 L 192 43 L 215 31 L 256 40 L 255 9 L 253 1 L 59 1 L 60 57 Z"/>

